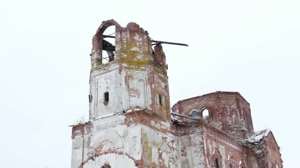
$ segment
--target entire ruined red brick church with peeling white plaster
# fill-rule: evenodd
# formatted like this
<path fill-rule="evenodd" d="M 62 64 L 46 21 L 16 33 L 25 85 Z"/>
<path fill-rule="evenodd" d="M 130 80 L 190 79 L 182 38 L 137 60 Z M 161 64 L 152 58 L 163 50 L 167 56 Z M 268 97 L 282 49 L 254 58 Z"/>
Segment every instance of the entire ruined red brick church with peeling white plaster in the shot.
<path fill-rule="evenodd" d="M 110 26 L 114 45 L 103 36 Z M 166 57 L 152 45 L 135 23 L 98 28 L 89 121 L 73 126 L 72 168 L 282 168 L 273 134 L 254 132 L 239 93 L 214 92 L 171 109 Z"/>

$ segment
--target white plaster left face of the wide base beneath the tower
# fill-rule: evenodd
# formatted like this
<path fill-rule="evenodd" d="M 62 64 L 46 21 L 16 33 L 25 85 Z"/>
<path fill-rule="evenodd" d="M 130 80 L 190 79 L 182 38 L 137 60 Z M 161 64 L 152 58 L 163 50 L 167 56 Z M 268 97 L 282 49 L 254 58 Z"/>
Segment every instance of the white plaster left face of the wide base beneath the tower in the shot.
<path fill-rule="evenodd" d="M 109 163 L 112 168 L 135 168 L 134 160 L 140 160 L 142 157 L 142 125 L 127 126 L 124 125 L 124 119 L 123 115 L 113 115 L 91 121 L 92 129 L 88 132 L 87 128 L 84 129 L 84 142 L 82 134 L 77 135 L 73 140 L 71 168 L 78 168 L 82 162 L 82 151 L 83 162 L 87 161 L 83 168 L 100 168 L 105 162 Z M 107 141 L 109 143 L 106 143 Z M 84 143 L 83 150 L 82 143 Z M 99 144 L 104 144 L 103 150 L 112 149 L 116 150 L 116 153 L 96 157 L 94 149 Z M 93 156 L 95 161 L 88 160 L 90 156 Z"/>

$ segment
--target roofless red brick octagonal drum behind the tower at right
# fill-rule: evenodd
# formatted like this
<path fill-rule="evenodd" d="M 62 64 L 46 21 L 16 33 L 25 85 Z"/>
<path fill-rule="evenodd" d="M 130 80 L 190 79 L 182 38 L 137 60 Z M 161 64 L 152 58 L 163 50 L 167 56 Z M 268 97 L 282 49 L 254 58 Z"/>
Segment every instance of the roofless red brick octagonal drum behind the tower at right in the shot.
<path fill-rule="evenodd" d="M 243 112 L 239 109 L 247 109 L 250 112 L 249 106 L 239 93 L 219 91 L 179 101 L 172 107 L 172 111 L 191 116 L 191 112 L 196 110 L 198 118 L 202 118 L 202 112 L 207 109 L 209 116 L 203 120 L 228 134 L 245 138 L 248 131 L 243 121 Z M 188 120 L 184 117 L 180 119 Z"/>

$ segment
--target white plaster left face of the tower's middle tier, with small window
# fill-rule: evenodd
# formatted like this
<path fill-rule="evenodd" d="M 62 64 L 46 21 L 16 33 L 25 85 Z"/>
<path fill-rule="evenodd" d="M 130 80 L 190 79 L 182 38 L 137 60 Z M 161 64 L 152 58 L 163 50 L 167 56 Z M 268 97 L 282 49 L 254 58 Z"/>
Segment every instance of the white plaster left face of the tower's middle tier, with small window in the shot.
<path fill-rule="evenodd" d="M 104 93 L 109 92 L 109 103 L 104 104 Z M 124 70 L 119 72 L 119 64 L 95 70 L 90 75 L 90 118 L 128 109 Z"/>

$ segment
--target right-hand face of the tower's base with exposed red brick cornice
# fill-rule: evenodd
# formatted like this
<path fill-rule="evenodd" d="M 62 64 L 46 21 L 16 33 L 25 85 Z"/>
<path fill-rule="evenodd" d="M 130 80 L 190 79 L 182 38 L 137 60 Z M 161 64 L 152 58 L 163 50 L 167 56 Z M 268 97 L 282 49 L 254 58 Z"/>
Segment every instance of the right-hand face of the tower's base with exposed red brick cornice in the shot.
<path fill-rule="evenodd" d="M 150 111 L 125 113 L 126 124 L 141 123 L 143 167 L 180 168 L 176 126 Z"/>

